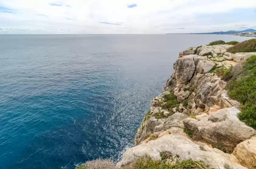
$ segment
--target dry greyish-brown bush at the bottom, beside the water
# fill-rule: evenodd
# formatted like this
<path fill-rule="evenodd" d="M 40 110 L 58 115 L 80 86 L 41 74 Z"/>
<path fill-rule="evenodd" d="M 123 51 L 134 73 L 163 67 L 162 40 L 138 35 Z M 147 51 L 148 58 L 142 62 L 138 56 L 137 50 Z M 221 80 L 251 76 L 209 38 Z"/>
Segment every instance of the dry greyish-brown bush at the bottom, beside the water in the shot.
<path fill-rule="evenodd" d="M 87 161 L 77 166 L 76 169 L 115 169 L 116 164 L 111 159 L 98 158 L 96 160 Z"/>

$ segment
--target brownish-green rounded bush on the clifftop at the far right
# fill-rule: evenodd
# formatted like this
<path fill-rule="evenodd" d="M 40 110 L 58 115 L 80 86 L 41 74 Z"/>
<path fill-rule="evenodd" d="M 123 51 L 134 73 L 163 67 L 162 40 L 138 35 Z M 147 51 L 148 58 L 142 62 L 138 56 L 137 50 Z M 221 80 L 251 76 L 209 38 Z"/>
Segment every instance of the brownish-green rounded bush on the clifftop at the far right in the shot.
<path fill-rule="evenodd" d="M 246 40 L 227 49 L 227 52 L 256 52 L 256 39 Z"/>

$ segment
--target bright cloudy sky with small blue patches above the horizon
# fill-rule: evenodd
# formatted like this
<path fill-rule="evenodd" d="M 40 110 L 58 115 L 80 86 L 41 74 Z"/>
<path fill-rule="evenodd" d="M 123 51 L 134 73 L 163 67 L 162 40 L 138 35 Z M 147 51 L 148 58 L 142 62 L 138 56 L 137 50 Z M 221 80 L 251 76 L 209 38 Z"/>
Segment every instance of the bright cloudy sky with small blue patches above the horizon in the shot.
<path fill-rule="evenodd" d="M 0 0 L 0 34 L 256 29 L 256 0 Z"/>

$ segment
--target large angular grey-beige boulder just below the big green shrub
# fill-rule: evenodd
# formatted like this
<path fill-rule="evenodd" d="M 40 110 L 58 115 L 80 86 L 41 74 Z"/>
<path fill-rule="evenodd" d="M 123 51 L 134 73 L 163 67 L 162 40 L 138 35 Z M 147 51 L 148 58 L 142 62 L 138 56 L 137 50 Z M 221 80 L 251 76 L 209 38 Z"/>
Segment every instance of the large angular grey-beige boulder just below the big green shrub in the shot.
<path fill-rule="evenodd" d="M 240 111 L 234 107 L 218 110 L 208 121 L 192 118 L 183 120 L 184 126 L 194 130 L 199 138 L 210 143 L 234 147 L 256 135 L 256 131 L 241 122 L 236 116 Z"/>

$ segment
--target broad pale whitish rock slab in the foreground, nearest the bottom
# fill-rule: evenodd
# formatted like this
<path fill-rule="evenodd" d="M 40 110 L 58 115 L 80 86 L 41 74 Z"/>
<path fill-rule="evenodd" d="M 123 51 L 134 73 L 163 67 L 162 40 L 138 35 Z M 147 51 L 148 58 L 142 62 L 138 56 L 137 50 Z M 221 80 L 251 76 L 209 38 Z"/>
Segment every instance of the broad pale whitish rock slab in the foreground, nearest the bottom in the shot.
<path fill-rule="evenodd" d="M 238 160 L 233 154 L 225 154 L 207 145 L 204 145 L 204 149 L 201 150 L 199 145 L 187 137 L 167 134 L 158 137 L 156 140 L 151 140 L 126 150 L 116 167 L 126 166 L 144 155 L 148 155 L 155 160 L 161 160 L 160 152 L 170 151 L 173 157 L 178 155 L 180 160 L 188 160 L 190 158 L 193 160 L 202 160 L 213 168 L 224 168 L 224 165 L 228 164 L 230 167 L 235 167 L 236 169 L 246 169 L 237 164 Z"/>

